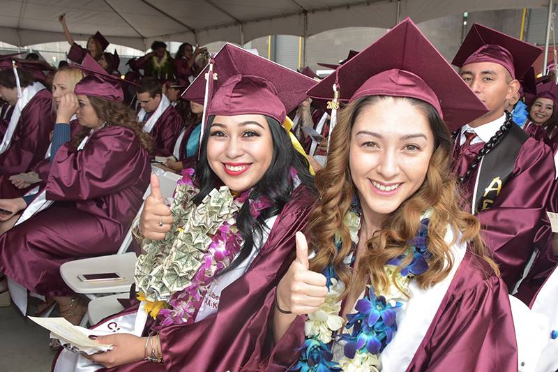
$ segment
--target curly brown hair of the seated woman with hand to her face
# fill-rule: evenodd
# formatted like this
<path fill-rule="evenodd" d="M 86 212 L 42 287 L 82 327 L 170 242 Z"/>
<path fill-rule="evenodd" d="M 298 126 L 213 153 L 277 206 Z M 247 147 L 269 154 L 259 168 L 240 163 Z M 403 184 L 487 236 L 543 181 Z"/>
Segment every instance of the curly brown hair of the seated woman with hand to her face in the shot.
<path fill-rule="evenodd" d="M 130 107 L 126 107 L 119 102 L 109 101 L 96 96 L 87 96 L 87 98 L 89 98 L 89 103 L 91 103 L 91 107 L 95 110 L 100 121 L 106 123 L 105 127 L 123 126 L 132 129 L 138 140 L 140 140 L 142 147 L 147 151 L 151 151 L 151 147 L 153 146 L 151 135 L 144 132 L 142 124 L 137 122 L 135 112 L 133 112 Z M 89 131 L 89 128 L 84 128 L 83 131 L 75 137 L 72 144 L 74 146 L 80 144 L 84 137 L 89 134 Z"/>

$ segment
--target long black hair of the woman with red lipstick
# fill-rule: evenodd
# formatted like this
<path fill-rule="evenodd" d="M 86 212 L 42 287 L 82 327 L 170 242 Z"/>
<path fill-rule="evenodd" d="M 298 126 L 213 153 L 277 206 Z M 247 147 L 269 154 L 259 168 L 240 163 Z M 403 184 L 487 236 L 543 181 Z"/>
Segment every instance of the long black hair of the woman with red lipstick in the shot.
<path fill-rule="evenodd" d="M 250 204 L 248 200 L 243 204 L 236 216 L 236 225 L 242 236 L 243 246 L 236 258 L 231 262 L 231 265 L 229 265 L 227 269 L 221 271 L 219 275 L 223 275 L 225 272 L 238 267 L 241 262 L 250 255 L 254 244 L 254 236 L 262 237 L 265 228 L 265 220 L 279 214 L 285 204 L 291 200 L 291 195 L 294 190 L 289 175 L 291 168 L 294 168 L 298 173 L 301 186 L 308 186 L 315 191 L 314 179 L 308 170 L 308 160 L 294 149 L 287 131 L 285 131 L 285 128 L 283 128 L 276 119 L 272 119 L 271 117 L 265 118 L 269 125 L 269 130 L 271 131 L 271 137 L 273 138 L 273 157 L 262 179 L 253 186 L 248 199 L 257 200 L 262 196 L 266 196 L 271 202 L 271 206 L 264 209 L 256 219 L 250 214 Z M 207 140 L 209 138 L 209 129 L 211 128 L 212 122 L 213 117 L 209 119 L 204 130 L 199 162 L 196 167 L 196 179 L 197 183 L 200 185 L 200 190 L 194 197 L 195 204 L 200 204 L 213 188 L 223 184 L 213 170 L 211 170 L 207 161 Z"/>

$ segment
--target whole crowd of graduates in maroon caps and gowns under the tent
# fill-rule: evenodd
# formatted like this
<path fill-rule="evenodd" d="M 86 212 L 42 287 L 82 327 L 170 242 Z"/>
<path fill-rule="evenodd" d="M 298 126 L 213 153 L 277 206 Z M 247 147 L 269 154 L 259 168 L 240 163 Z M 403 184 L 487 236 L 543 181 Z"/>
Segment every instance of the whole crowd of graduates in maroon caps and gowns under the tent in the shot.
<path fill-rule="evenodd" d="M 105 36 L 84 48 L 59 21 L 68 66 L 0 56 L 0 304 L 13 281 L 77 325 L 64 262 L 114 254 L 133 228 L 138 262 L 186 265 L 176 208 L 226 187 L 238 210 L 206 230 L 213 264 L 190 286 L 149 298 L 136 278 L 91 325 L 121 326 L 93 336 L 113 349 L 61 349 L 53 371 L 521 369 L 511 303 L 533 307 L 558 265 L 558 85 L 536 79 L 540 48 L 474 24 L 449 64 L 407 19 L 323 79 L 161 41 L 121 75 Z M 191 195 L 168 205 L 156 168 Z"/>

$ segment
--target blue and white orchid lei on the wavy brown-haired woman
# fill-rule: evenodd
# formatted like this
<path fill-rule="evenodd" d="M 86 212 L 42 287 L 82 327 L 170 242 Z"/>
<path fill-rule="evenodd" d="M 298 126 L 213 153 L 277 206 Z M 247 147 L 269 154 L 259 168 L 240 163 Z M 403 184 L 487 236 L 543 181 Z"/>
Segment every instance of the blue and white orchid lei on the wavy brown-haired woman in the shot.
<path fill-rule="evenodd" d="M 348 214 L 352 216 L 349 220 L 360 218 L 359 208 L 355 202 L 353 202 L 353 207 Z M 410 281 L 414 276 L 423 274 L 428 269 L 427 261 L 430 258 L 427 246 L 429 222 L 428 218 L 421 220 L 421 226 L 416 236 L 409 241 L 410 250 L 406 255 L 400 255 L 386 262 L 386 269 L 393 271 L 401 265 L 402 260 L 405 260 L 407 255 L 412 255 L 412 262 L 406 267 L 402 267 L 397 274 L 398 280 Z M 358 230 L 356 226 L 353 226 L 353 228 Z M 351 230 L 350 226 L 349 230 Z M 341 240 L 334 239 L 334 243 L 340 249 Z M 353 241 L 353 252 L 356 249 L 356 243 L 356 241 Z M 354 260 L 354 255 L 352 255 L 352 260 Z M 331 291 L 333 283 L 338 283 L 339 280 L 333 265 L 326 267 L 323 274 L 327 279 L 328 290 Z M 384 296 L 377 296 L 374 288 L 370 285 L 365 297 L 356 302 L 356 313 L 347 314 L 348 321 L 345 329 L 349 333 L 336 336 L 335 331 L 330 329 L 331 338 L 328 339 L 345 341 L 342 359 L 340 361 L 333 360 L 332 347 L 335 341 L 325 343 L 322 341 L 323 338 L 319 337 L 319 334 L 310 336 L 307 334 L 303 345 L 297 349 L 301 351 L 301 357 L 289 371 L 331 372 L 364 371 L 365 369 L 379 371 L 379 355 L 397 332 L 396 315 L 401 307 L 402 303 L 400 302 L 393 299 L 388 301 Z"/>

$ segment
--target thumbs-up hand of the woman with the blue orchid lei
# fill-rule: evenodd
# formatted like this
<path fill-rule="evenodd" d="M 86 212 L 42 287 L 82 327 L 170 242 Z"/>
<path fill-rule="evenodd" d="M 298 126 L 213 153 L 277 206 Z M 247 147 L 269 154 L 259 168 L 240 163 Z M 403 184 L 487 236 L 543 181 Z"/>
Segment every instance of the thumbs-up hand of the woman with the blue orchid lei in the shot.
<path fill-rule="evenodd" d="M 277 286 L 281 310 L 293 314 L 310 314 L 324 303 L 326 277 L 308 269 L 308 243 L 302 232 L 296 232 L 296 259 Z"/>

